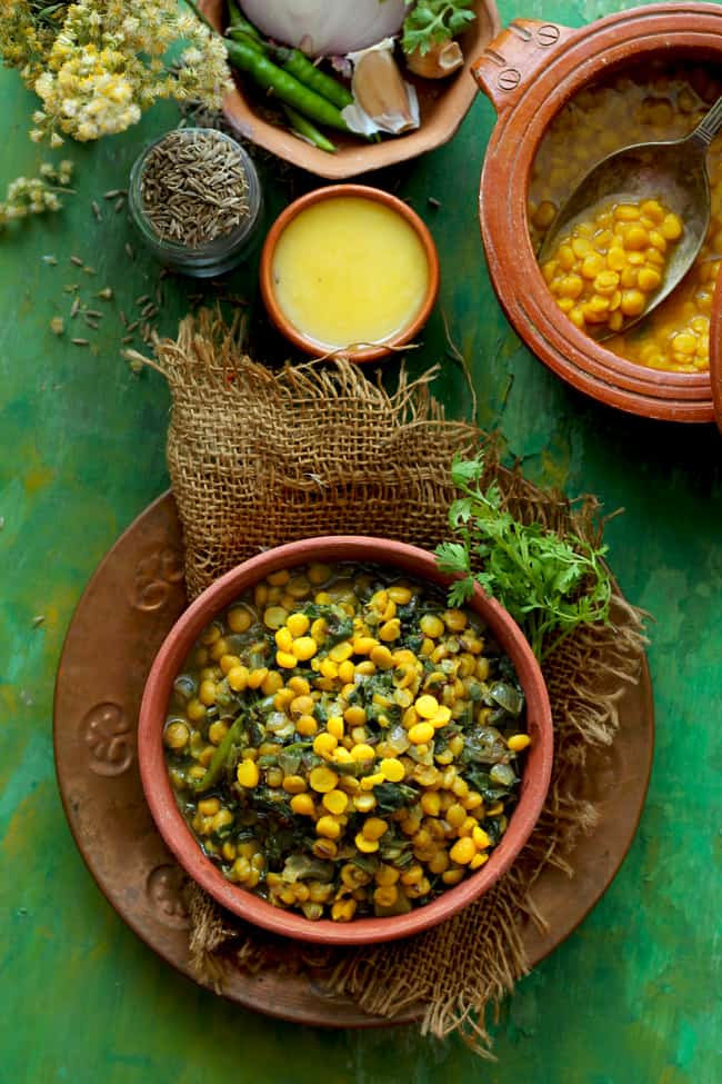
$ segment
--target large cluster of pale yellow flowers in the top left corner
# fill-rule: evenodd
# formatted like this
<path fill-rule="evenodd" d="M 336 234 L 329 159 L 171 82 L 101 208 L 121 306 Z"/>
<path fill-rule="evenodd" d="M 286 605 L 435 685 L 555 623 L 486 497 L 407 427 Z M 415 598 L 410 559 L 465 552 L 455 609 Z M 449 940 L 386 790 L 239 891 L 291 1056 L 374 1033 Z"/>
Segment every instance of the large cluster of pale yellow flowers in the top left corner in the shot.
<path fill-rule="evenodd" d="M 230 86 L 223 41 L 177 0 L 79 0 L 51 17 L 32 0 L 3 0 L 0 52 L 42 100 L 36 142 L 124 131 L 159 98 L 220 107 Z M 184 41 L 179 63 L 163 57 Z"/>

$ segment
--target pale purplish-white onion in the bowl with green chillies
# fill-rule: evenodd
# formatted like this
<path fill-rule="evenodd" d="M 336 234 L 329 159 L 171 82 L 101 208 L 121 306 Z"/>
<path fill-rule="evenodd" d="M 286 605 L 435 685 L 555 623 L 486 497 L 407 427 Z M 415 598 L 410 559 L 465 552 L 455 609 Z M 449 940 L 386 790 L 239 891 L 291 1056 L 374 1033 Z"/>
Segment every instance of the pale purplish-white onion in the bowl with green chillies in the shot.
<path fill-rule="evenodd" d="M 407 0 L 240 0 L 268 38 L 312 57 L 343 56 L 395 34 Z"/>

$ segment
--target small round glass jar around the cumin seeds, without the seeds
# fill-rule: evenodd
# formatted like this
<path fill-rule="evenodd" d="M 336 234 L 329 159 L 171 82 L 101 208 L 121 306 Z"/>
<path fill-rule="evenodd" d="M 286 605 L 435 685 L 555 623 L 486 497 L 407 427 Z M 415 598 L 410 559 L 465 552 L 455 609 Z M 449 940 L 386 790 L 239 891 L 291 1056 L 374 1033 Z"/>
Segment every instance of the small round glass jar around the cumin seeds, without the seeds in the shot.
<path fill-rule="evenodd" d="M 128 190 L 130 215 L 143 243 L 161 263 L 194 278 L 213 278 L 235 267 L 250 251 L 261 219 L 263 206 L 261 185 L 249 155 L 225 132 L 214 128 L 179 128 L 176 131 L 185 135 L 189 141 L 192 141 L 198 133 L 212 133 L 218 139 L 232 145 L 248 180 L 248 213 L 228 233 L 204 241 L 194 248 L 161 237 L 146 212 L 141 186 L 148 156 L 167 138 L 169 133 L 166 132 L 160 139 L 149 143 L 133 165 Z"/>

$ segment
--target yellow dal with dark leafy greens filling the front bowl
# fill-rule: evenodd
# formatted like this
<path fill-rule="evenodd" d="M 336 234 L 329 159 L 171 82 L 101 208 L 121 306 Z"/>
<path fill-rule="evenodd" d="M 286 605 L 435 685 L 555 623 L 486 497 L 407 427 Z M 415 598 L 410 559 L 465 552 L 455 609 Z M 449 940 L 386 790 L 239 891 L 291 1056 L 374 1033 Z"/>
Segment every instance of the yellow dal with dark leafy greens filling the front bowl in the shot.
<path fill-rule="evenodd" d="M 272 573 L 212 621 L 163 730 L 229 881 L 307 918 L 403 914 L 488 862 L 530 745 L 478 615 L 398 569 Z"/>

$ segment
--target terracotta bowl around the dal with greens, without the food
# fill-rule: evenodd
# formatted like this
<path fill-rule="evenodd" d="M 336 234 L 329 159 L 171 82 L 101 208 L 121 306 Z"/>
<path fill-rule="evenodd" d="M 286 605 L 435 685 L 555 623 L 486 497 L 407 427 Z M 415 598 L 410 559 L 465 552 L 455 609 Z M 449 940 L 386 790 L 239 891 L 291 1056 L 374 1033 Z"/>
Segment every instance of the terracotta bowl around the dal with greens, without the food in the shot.
<path fill-rule="evenodd" d="M 469 606 L 485 621 L 497 643 L 514 664 L 527 696 L 527 722 L 532 744 L 521 782 L 519 803 L 507 833 L 479 871 L 432 903 L 407 915 L 359 918 L 350 923 L 311 922 L 274 907 L 237 885 L 203 855 L 185 824 L 168 778 L 162 729 L 171 685 L 202 628 L 245 588 L 269 573 L 310 560 L 373 561 L 419 579 L 445 586 L 432 554 L 415 546 L 358 535 L 310 538 L 278 546 L 227 573 L 192 603 L 163 642 L 146 684 L 138 727 L 138 759 L 146 798 L 158 829 L 187 873 L 227 911 L 284 937 L 333 945 L 372 944 L 421 933 L 450 918 L 487 892 L 504 874 L 529 838 L 549 788 L 553 756 L 552 720 L 539 665 L 519 626 L 507 610 L 480 588 Z"/>

